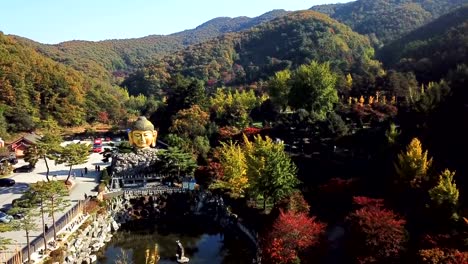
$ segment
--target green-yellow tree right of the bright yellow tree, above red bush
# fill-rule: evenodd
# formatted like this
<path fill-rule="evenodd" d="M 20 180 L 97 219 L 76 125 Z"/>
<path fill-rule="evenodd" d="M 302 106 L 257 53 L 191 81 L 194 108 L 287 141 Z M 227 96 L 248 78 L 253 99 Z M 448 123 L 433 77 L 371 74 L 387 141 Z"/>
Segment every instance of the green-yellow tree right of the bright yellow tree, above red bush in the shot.
<path fill-rule="evenodd" d="M 297 168 L 284 151 L 283 143 L 269 137 L 255 136 L 253 141 L 244 135 L 247 177 L 252 194 L 263 197 L 263 209 L 272 199 L 273 204 L 291 194 L 299 183 Z"/>

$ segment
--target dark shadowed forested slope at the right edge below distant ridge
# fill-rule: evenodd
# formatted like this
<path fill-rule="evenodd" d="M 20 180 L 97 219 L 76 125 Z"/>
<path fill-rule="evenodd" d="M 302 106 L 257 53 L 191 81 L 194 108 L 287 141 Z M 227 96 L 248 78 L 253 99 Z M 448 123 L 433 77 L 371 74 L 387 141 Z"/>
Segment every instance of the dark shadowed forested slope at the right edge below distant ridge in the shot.
<path fill-rule="evenodd" d="M 468 6 L 382 48 L 378 57 L 388 67 L 414 72 L 425 83 L 438 81 L 458 64 L 468 63 Z"/>

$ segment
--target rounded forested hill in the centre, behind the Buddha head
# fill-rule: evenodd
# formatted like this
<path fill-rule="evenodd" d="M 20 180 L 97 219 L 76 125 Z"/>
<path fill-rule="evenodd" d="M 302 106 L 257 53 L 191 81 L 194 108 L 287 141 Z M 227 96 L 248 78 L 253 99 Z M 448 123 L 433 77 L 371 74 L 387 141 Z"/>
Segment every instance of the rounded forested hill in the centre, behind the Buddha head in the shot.
<path fill-rule="evenodd" d="M 137 94 L 144 83 L 139 78 L 161 87 L 166 77 L 176 73 L 204 80 L 208 86 L 245 85 L 312 60 L 330 62 L 340 73 L 375 74 L 379 64 L 372 57 L 364 36 L 321 13 L 299 11 L 165 56 L 124 85 Z"/>

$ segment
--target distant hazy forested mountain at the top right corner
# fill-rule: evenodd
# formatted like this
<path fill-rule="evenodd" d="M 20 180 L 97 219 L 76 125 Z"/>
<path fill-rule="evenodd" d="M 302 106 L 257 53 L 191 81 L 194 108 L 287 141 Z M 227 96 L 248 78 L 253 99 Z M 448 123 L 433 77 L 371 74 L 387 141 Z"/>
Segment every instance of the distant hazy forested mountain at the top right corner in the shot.
<path fill-rule="evenodd" d="M 379 46 L 466 3 L 467 0 L 358 0 L 311 9 L 330 15 L 356 32 L 370 35 Z"/>

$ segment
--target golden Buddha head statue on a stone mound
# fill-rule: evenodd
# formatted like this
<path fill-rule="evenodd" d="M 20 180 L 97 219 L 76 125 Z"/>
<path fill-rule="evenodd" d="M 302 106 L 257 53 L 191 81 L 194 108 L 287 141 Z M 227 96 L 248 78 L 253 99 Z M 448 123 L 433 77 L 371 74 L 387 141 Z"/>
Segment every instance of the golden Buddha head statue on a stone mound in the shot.
<path fill-rule="evenodd" d="M 154 125 L 144 116 L 138 117 L 128 132 L 130 144 L 136 148 L 149 148 L 156 146 L 158 132 L 154 130 Z"/>

